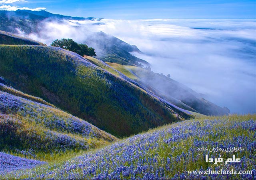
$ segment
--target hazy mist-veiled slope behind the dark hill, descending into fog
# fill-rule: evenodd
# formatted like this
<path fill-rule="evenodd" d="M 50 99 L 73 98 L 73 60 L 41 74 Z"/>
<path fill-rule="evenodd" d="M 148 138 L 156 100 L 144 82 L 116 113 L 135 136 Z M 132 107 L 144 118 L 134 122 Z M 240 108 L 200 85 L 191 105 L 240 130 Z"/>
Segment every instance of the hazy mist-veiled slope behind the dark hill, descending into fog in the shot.
<path fill-rule="evenodd" d="M 200 94 L 171 78 L 136 66 L 121 66 L 115 63 L 108 64 L 139 84 L 142 84 L 157 96 L 168 100 L 180 108 L 210 116 L 229 113 L 228 108 L 222 108 L 209 102 L 202 98 Z"/>

